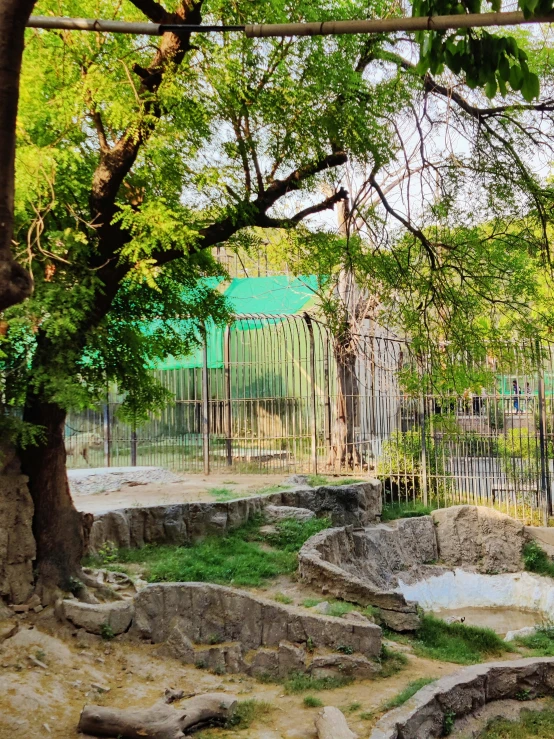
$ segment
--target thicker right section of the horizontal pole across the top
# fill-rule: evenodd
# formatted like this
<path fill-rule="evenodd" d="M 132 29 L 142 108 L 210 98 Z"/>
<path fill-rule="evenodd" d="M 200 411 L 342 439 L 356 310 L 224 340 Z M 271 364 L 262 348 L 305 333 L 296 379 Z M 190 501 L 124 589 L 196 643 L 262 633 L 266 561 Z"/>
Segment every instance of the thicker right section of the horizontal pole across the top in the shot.
<path fill-rule="evenodd" d="M 391 33 L 395 31 L 445 31 L 449 28 L 485 28 L 553 23 L 554 14 L 525 18 L 521 11 L 511 13 L 462 13 L 416 18 L 379 18 L 322 23 L 279 23 L 245 27 L 248 38 L 269 36 L 327 36 L 350 33 Z"/>

